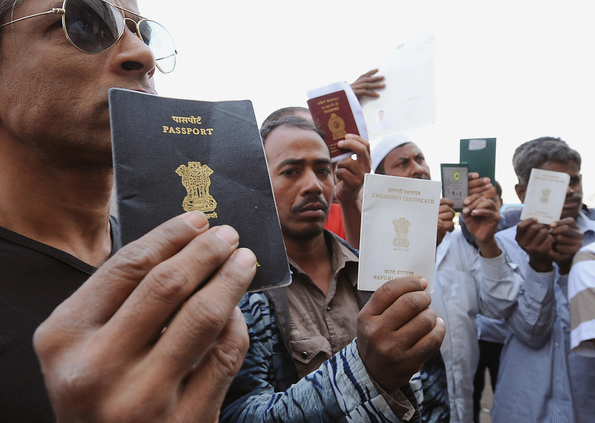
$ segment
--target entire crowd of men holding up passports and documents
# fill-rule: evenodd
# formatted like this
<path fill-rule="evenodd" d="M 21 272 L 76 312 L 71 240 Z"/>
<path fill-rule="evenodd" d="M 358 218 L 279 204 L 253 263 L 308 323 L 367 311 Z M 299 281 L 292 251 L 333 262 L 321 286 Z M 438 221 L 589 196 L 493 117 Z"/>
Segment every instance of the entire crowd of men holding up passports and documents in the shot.
<path fill-rule="evenodd" d="M 568 173 L 559 220 L 501 216 L 499 185 L 470 173 L 460 225 L 440 201 L 434 293 L 428 274 L 363 292 L 364 175 L 430 179 L 424 153 L 349 134 L 356 159 L 333 165 L 308 110 L 280 109 L 261 137 L 292 284 L 246 293 L 254 254 L 200 211 L 118 245 L 107 89 L 156 93 L 175 56 L 138 13 L 0 0 L 3 421 L 465 423 L 486 366 L 492 421 L 593 421 L 595 220 L 576 150 L 542 137 L 512 158 L 521 202 L 531 169 Z"/>

